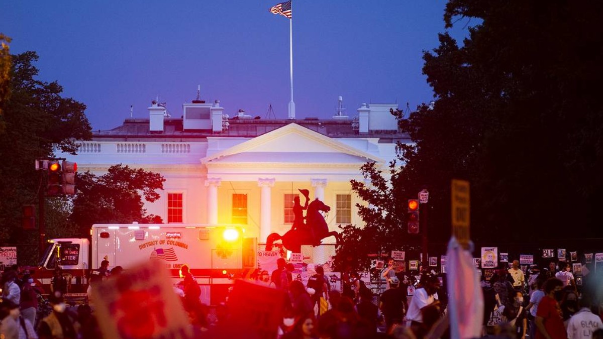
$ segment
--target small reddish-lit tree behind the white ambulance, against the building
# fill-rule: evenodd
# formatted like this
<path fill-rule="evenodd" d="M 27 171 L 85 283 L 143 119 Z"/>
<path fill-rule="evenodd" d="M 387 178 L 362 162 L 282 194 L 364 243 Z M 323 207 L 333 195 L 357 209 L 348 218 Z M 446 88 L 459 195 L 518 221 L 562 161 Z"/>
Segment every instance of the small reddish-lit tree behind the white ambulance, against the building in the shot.
<path fill-rule="evenodd" d="M 147 215 L 142 197 L 150 202 L 159 199 L 157 190 L 163 189 L 163 182 L 158 173 L 121 164 L 111 166 L 103 176 L 78 173 L 71 221 L 80 236 L 88 236 L 93 224 L 162 223 L 160 217 Z"/>

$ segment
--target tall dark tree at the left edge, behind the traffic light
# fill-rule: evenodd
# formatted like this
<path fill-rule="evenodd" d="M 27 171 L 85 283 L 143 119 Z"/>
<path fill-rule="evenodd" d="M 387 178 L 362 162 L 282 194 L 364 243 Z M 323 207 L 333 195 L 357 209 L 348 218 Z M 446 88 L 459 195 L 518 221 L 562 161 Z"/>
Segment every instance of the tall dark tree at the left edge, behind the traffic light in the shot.
<path fill-rule="evenodd" d="M 37 239 L 21 230 L 22 205 L 36 203 L 42 189 L 34 160 L 51 157 L 55 148 L 75 153 L 74 140 L 90 139 L 92 133 L 84 104 L 63 98 L 57 82 L 37 80 L 36 52 L 10 59 L 11 95 L 2 102 L 5 130 L 0 133 L 0 238 L 14 244 Z"/>

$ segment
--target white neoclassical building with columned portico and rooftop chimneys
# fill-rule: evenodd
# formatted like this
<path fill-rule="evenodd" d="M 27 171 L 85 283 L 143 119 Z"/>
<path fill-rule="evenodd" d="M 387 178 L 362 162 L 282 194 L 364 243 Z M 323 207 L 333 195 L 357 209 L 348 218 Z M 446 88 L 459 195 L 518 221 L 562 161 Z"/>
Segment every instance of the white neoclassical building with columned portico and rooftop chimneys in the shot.
<path fill-rule="evenodd" d="M 390 108 L 397 105 L 362 104 L 355 119 L 260 119 L 242 111 L 228 119 L 219 101 L 194 100 L 183 104 L 181 118 L 171 118 L 153 102 L 149 118 L 95 131 L 77 156 L 60 156 L 80 172 L 103 174 L 123 163 L 160 173 L 164 191 L 145 204 L 148 213 L 164 223 L 244 224 L 246 236 L 264 242 L 291 228 L 298 189 L 331 207 L 330 230 L 362 224 L 350 179 L 364 180 L 367 161 L 387 167 L 396 142 L 410 142 Z"/>

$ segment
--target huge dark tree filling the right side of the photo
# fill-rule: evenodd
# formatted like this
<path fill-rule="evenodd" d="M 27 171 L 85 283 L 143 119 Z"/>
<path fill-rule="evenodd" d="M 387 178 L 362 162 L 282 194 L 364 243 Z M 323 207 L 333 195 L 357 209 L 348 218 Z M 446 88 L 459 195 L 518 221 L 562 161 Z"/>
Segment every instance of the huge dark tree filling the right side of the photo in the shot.
<path fill-rule="evenodd" d="M 430 241 L 450 237 L 453 178 L 470 181 L 478 242 L 603 236 L 601 17 L 601 2 L 450 0 L 447 28 L 479 23 L 462 44 L 442 33 L 423 55 L 434 106 L 408 118 L 393 112 L 415 145 L 400 148 L 391 194 L 368 200 L 382 191 L 375 180 L 376 190 L 352 182 L 353 189 L 387 209 L 428 188 Z M 368 166 L 363 172 L 373 176 Z M 397 218 L 386 223 L 405 227 Z M 408 239 L 402 232 L 397 241 Z"/>

